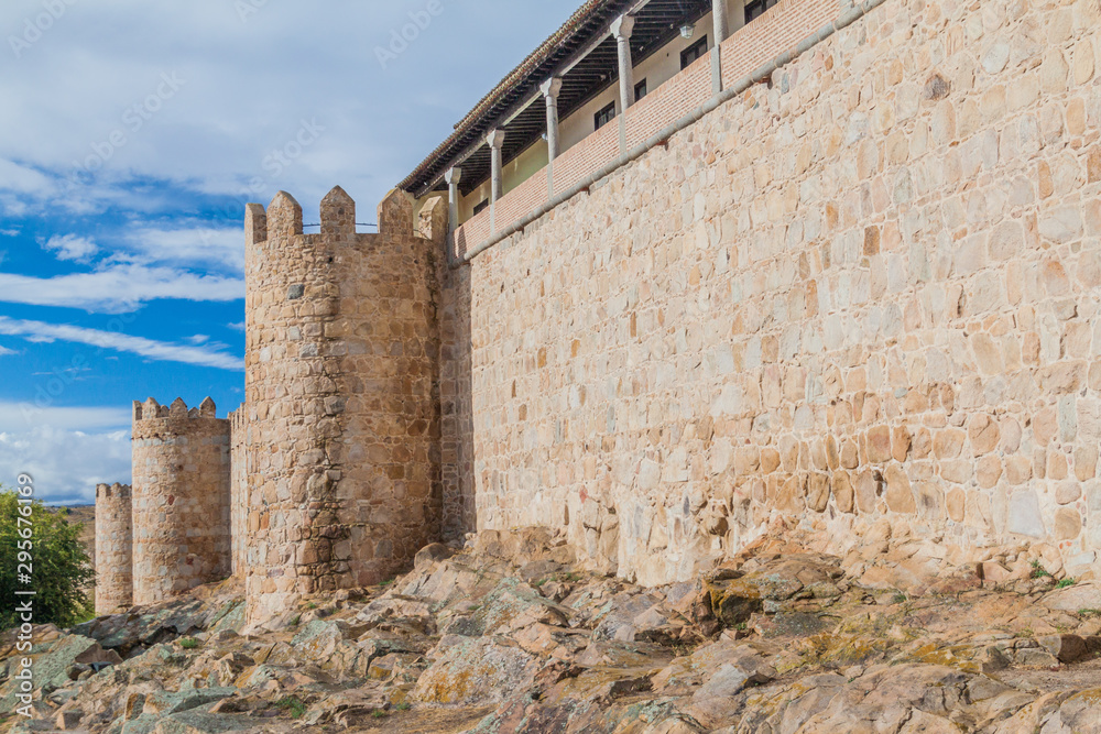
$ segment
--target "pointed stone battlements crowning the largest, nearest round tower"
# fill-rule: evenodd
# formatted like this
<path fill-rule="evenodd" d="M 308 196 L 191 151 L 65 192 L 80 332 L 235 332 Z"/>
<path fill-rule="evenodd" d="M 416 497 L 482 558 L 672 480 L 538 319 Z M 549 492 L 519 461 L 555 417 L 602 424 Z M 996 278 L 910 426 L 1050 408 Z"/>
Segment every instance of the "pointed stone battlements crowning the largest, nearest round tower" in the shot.
<path fill-rule="evenodd" d="M 413 199 L 401 189 L 393 189 L 379 202 L 377 209 L 379 231 L 378 233 L 358 233 L 356 231 L 356 201 L 339 186 L 333 188 L 325 195 L 320 204 L 320 234 L 306 234 L 303 231 L 302 205 L 287 194 L 279 191 L 268 205 L 265 210 L 263 205 L 249 204 L 244 208 L 244 238 L 246 245 L 253 247 L 266 242 L 274 237 L 294 238 L 302 237 L 310 239 L 348 239 L 348 240 L 372 240 L 382 237 L 413 237 L 417 234 L 424 239 L 435 241 L 440 237 L 439 222 L 446 227 L 447 211 L 443 206 L 435 213 L 435 227 L 430 230 L 432 235 L 426 235 L 423 227 L 422 231 L 414 231 L 413 227 Z"/>

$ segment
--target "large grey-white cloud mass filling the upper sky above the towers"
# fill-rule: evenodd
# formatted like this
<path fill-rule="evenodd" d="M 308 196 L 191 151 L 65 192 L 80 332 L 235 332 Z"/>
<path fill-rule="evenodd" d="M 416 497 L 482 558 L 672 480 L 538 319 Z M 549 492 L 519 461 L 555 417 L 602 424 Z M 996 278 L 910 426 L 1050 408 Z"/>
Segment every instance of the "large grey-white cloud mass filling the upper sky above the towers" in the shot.
<path fill-rule="evenodd" d="M 285 188 L 314 213 L 340 184 L 369 212 L 577 4 L 445 0 L 443 15 L 383 68 L 375 48 L 426 2 L 269 2 L 246 22 L 229 0 L 73 3 L 18 59 L 4 44 L 0 207 L 140 208 L 150 193 L 128 183 L 167 178 L 262 202 Z M 0 26 L 18 34 L 41 12 L 41 0 L 6 0 Z M 458 47 L 456 37 L 469 43 Z M 456 67 L 464 73 L 438 74 Z M 165 74 L 182 81 L 177 89 L 162 87 Z M 151 111 L 159 89 L 172 94 Z M 272 151 L 315 118 L 326 128 L 318 141 L 290 166 L 270 165 Z M 89 161 L 94 185 L 85 183 Z M 253 180 L 259 190 L 242 195 Z"/>

